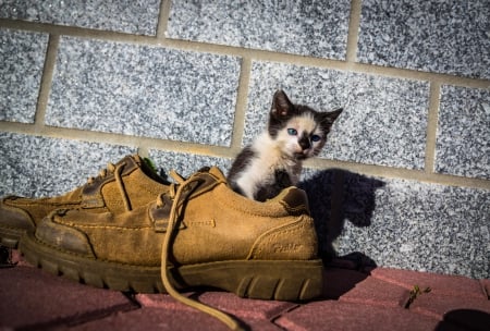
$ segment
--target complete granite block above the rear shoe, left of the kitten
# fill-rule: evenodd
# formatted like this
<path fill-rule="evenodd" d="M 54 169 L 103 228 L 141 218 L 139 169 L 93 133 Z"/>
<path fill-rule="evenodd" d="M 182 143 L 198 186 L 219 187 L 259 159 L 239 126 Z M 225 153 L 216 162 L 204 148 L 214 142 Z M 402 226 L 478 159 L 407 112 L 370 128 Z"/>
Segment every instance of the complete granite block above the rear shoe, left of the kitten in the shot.
<path fill-rule="evenodd" d="M 240 60 L 63 37 L 46 123 L 229 146 Z"/>

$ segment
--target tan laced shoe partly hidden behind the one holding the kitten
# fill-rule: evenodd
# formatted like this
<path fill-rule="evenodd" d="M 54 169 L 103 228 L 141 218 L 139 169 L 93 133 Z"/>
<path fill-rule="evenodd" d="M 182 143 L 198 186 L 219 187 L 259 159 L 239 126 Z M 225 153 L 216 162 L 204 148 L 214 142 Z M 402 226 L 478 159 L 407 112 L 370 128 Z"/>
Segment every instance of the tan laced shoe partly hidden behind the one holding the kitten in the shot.
<path fill-rule="evenodd" d="M 97 177 L 70 193 L 48 198 L 8 196 L 0 200 L 0 245 L 15 248 L 25 231 L 34 231 L 40 220 L 56 209 L 120 213 L 146 205 L 168 191 L 169 183 L 158 176 L 137 155 L 109 163 Z"/>

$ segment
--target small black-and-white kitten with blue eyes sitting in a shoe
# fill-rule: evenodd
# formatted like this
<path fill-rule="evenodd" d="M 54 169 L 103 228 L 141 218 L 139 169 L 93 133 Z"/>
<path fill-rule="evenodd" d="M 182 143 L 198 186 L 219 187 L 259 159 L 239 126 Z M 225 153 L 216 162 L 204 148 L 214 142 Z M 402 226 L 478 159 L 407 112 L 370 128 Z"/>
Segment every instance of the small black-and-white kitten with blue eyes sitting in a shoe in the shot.
<path fill-rule="evenodd" d="M 303 160 L 320 152 L 341 112 L 318 112 L 293 105 L 284 91 L 275 91 L 267 130 L 232 164 L 228 182 L 233 191 L 265 201 L 296 185 Z"/>

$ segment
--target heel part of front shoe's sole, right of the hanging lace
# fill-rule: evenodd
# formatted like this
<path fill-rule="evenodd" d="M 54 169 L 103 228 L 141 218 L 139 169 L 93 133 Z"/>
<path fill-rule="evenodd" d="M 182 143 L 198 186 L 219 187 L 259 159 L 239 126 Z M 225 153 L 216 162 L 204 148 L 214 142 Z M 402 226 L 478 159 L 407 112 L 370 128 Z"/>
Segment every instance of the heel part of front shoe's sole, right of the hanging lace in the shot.
<path fill-rule="evenodd" d="M 323 286 L 321 260 L 223 261 L 184 266 L 170 272 L 184 287 L 212 286 L 259 299 L 307 301 L 320 296 Z"/>

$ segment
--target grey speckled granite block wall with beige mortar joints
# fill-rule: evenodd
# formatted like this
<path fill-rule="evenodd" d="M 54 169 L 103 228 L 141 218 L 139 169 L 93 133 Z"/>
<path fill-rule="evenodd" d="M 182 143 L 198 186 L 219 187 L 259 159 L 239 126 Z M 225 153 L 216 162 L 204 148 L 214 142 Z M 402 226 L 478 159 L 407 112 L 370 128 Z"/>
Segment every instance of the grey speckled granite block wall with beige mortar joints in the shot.
<path fill-rule="evenodd" d="M 140 154 L 188 175 L 272 94 L 344 107 L 306 164 L 322 254 L 490 277 L 490 2 L 0 1 L 0 195 Z"/>

